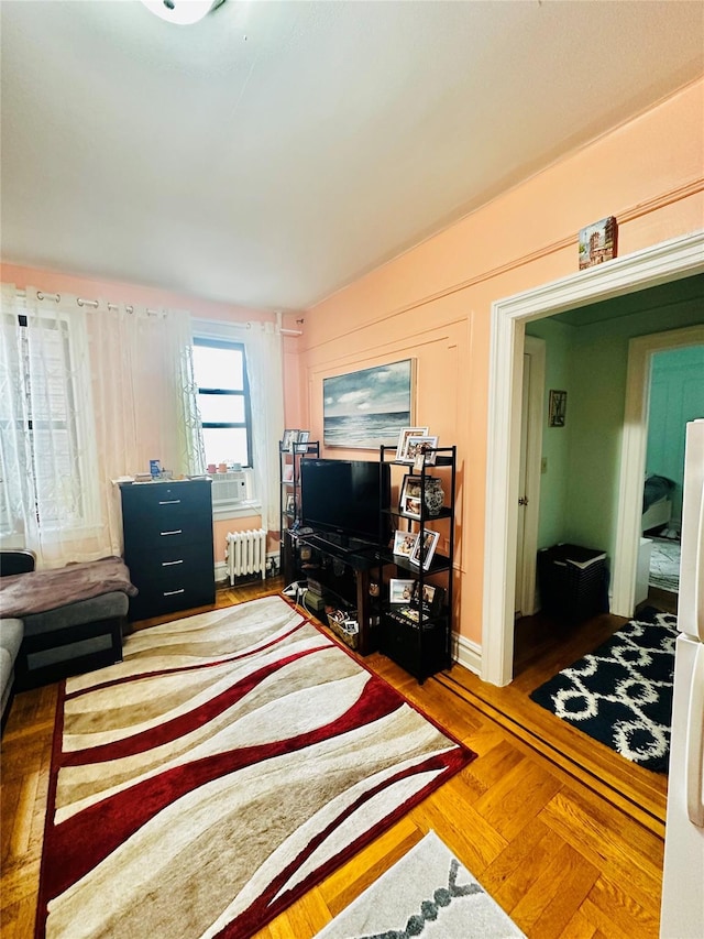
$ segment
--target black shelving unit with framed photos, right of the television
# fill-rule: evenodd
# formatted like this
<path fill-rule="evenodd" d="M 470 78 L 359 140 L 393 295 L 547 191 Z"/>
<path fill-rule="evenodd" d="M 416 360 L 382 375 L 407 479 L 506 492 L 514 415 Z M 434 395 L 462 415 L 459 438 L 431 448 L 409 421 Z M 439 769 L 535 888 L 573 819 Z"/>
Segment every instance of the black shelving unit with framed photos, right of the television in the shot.
<path fill-rule="evenodd" d="M 410 478 L 419 491 L 418 513 L 413 517 L 404 511 L 400 502 L 391 506 L 380 505 L 382 531 L 388 527 L 384 523 L 391 520 L 395 531 L 417 535 L 421 545 L 426 543 L 428 533 L 437 532 L 438 545 L 443 548 L 436 550 L 428 567 L 394 554 L 393 539 L 380 549 L 381 560 L 391 571 L 382 591 L 380 651 L 419 683 L 452 665 L 457 447 L 438 447 L 430 452 L 435 455 L 433 463 L 426 462 L 416 468 L 396 460 L 395 447 L 380 448 L 380 460 L 397 468 L 392 482 L 398 483 L 399 496 L 406 478 Z M 426 493 L 432 485 L 432 478 L 441 480 L 444 491 L 444 503 L 437 514 L 431 514 L 426 505 Z M 413 581 L 413 591 L 407 600 L 392 602 L 392 579 Z"/>

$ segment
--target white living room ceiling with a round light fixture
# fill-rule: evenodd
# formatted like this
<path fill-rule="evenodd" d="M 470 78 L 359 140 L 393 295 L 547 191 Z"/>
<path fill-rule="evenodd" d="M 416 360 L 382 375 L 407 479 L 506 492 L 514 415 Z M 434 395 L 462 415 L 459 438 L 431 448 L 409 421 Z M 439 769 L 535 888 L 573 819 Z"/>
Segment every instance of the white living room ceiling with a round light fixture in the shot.
<path fill-rule="evenodd" d="M 300 309 L 704 72 L 680 0 L 2 0 L 3 260 Z"/>

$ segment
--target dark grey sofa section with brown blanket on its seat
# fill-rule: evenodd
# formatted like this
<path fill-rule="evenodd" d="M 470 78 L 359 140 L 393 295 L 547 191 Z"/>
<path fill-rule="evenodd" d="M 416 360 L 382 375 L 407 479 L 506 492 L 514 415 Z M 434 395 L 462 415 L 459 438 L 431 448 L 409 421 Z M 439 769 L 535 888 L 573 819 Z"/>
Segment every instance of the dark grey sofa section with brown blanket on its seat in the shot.
<path fill-rule="evenodd" d="M 0 552 L 3 725 L 14 690 L 120 662 L 129 598 L 136 593 L 121 558 L 14 572 L 4 556 Z"/>

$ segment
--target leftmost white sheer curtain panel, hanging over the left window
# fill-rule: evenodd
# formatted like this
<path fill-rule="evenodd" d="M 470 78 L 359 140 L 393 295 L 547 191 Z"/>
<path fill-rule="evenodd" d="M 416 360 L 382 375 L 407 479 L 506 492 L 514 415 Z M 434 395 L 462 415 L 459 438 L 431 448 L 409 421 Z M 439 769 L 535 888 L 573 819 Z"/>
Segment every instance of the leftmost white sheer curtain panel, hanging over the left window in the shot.
<path fill-rule="evenodd" d="M 0 474 L 3 544 L 37 565 L 62 566 L 107 552 L 98 482 L 86 315 L 75 298 L 26 299 L 2 288 Z"/>

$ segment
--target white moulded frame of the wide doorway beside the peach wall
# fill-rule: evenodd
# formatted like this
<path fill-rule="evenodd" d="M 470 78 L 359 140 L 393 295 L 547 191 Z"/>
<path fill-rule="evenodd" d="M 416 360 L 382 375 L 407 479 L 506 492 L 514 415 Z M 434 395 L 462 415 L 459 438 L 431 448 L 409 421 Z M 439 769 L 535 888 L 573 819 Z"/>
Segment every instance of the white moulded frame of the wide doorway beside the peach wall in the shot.
<path fill-rule="evenodd" d="M 525 324 L 702 272 L 704 230 L 492 304 L 487 425 L 492 433 L 487 435 L 485 514 L 492 523 L 484 533 L 483 680 L 503 686 L 513 678 Z M 632 581 L 635 571 L 634 566 Z"/>

